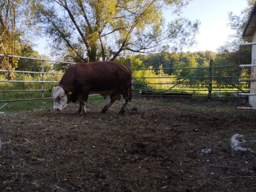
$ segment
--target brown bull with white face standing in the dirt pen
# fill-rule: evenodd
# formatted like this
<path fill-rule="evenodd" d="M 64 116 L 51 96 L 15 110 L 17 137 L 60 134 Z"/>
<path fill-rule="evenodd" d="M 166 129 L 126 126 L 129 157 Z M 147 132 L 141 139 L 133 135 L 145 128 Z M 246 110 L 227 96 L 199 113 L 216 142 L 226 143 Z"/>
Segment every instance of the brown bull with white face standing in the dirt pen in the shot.
<path fill-rule="evenodd" d="M 78 101 L 78 113 L 86 114 L 88 96 L 96 93 L 104 98 L 110 96 L 107 105 L 101 110 L 103 113 L 114 101 L 120 100 L 122 95 L 123 106 L 119 114 L 123 115 L 132 98 L 131 77 L 130 69 L 120 63 L 96 61 L 73 64 L 66 70 L 58 86 L 49 89 L 54 103 L 53 110 L 62 110 L 70 101 Z"/>

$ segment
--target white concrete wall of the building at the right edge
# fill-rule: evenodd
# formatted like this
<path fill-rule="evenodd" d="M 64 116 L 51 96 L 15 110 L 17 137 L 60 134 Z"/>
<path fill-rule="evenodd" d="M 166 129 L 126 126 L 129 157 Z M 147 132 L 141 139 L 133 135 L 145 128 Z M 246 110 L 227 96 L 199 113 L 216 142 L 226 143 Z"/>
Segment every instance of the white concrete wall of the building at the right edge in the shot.
<path fill-rule="evenodd" d="M 252 42 L 256 42 L 256 31 L 253 35 Z M 251 64 L 256 64 L 256 44 L 251 49 Z M 256 79 L 256 67 L 251 67 L 251 79 Z M 256 82 L 251 82 L 251 93 L 256 93 Z M 256 108 L 256 96 L 249 96 L 249 103 Z"/>

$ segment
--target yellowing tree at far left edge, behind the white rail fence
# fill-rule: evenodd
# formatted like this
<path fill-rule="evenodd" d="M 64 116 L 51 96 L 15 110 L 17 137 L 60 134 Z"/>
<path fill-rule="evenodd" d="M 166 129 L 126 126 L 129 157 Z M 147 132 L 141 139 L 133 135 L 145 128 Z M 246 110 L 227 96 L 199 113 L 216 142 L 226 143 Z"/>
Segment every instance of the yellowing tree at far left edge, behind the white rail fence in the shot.
<path fill-rule="evenodd" d="M 2 0 L 0 1 L 0 53 L 7 55 L 20 55 L 22 47 L 28 45 L 24 39 L 21 21 L 23 19 L 24 1 Z M 19 59 L 14 57 L 0 57 L 2 70 L 14 70 L 17 68 Z M 12 73 L 7 78 L 13 78 Z"/>

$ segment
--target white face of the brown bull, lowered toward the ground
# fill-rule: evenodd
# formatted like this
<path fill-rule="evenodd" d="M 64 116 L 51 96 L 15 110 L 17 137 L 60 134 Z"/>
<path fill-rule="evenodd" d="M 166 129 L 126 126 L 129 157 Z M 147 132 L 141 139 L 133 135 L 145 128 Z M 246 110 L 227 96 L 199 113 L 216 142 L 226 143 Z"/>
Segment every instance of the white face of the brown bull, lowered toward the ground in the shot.
<path fill-rule="evenodd" d="M 52 99 L 53 110 L 55 111 L 62 110 L 68 105 L 68 99 L 62 87 L 57 86 L 52 88 Z"/>

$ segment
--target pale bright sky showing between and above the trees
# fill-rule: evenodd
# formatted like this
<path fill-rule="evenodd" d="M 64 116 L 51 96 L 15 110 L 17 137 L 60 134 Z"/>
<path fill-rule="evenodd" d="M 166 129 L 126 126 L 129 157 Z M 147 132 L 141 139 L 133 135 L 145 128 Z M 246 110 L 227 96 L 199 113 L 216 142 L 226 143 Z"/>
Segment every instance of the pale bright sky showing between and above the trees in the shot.
<path fill-rule="evenodd" d="M 183 51 L 213 51 L 217 52 L 218 47 L 228 41 L 229 35 L 234 33 L 227 26 L 228 12 L 240 15 L 241 11 L 247 7 L 246 0 L 192 0 L 187 7 L 183 8 L 181 16 L 187 17 L 194 21 L 198 19 L 201 22 L 199 33 L 196 35 L 197 44 L 193 47 L 183 49 Z M 172 20 L 173 17 L 169 12 L 164 14 L 166 20 Z M 47 51 L 47 43 L 44 39 L 36 42 L 37 47 L 34 49 L 39 54 L 50 56 Z"/>

